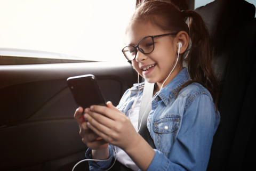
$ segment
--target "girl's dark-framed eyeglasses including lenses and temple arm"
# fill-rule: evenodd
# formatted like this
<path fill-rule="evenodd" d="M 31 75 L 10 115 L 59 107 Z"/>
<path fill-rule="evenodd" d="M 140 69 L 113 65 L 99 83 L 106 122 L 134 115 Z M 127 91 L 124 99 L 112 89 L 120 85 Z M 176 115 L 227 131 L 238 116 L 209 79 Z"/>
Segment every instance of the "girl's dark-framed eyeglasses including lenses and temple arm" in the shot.
<path fill-rule="evenodd" d="M 131 46 L 131 45 L 125 46 L 122 52 L 124 53 L 124 56 L 127 60 L 132 61 L 136 58 L 136 55 L 138 52 L 137 48 L 140 50 L 141 53 L 149 54 L 153 52 L 155 48 L 154 38 L 161 37 L 161 36 L 168 36 L 168 35 L 177 35 L 177 34 L 178 32 L 172 32 L 164 35 L 144 37 L 139 41 L 139 43 L 136 46 Z"/>

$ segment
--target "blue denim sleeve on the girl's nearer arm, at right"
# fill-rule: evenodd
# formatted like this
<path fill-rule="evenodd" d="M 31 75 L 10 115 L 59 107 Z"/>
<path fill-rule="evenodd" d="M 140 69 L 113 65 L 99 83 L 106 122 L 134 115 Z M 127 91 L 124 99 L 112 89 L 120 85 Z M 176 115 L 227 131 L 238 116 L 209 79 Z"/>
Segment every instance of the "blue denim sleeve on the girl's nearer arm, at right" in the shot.
<path fill-rule="evenodd" d="M 169 158 L 154 149 L 155 156 L 148 170 L 206 170 L 218 125 L 219 118 L 210 97 L 197 96 L 184 110 Z"/>

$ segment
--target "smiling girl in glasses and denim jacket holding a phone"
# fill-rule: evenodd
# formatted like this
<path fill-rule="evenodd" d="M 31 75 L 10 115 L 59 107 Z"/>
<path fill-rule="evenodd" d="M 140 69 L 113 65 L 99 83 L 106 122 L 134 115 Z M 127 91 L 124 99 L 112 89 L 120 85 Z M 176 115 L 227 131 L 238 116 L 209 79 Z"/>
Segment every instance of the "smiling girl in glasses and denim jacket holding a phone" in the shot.
<path fill-rule="evenodd" d="M 90 170 L 111 166 L 109 144 L 117 146 L 117 160 L 132 170 L 206 170 L 219 125 L 219 85 L 201 16 L 171 3 L 146 2 L 132 15 L 126 35 L 125 57 L 148 83 L 155 83 L 147 127 L 156 148 L 137 133 L 144 83 L 134 84 L 116 108 L 108 102 L 108 107 L 85 109 L 85 123 L 82 108 L 76 110 L 82 141 L 89 147 L 86 157 L 107 159 L 89 161 Z"/>

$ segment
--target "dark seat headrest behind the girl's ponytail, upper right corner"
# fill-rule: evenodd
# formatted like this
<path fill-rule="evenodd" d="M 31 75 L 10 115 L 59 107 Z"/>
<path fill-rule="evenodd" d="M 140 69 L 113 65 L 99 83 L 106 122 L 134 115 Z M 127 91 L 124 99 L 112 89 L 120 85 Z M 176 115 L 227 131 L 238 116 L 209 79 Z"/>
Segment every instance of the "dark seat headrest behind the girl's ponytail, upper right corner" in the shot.
<path fill-rule="evenodd" d="M 215 0 L 195 11 L 201 14 L 205 21 L 210 31 L 214 53 L 218 54 L 231 29 L 254 19 L 255 6 L 244 0 Z"/>

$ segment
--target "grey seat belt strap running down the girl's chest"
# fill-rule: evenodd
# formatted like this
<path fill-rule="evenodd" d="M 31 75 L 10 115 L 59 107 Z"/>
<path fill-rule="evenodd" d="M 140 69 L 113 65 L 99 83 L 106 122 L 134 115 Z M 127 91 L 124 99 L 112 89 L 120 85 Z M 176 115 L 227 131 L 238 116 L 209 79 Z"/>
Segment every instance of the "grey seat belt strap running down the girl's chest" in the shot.
<path fill-rule="evenodd" d="M 143 139 L 145 139 L 148 142 L 148 144 L 153 149 L 156 149 L 154 141 L 151 138 L 151 135 L 150 135 L 150 133 L 148 131 L 148 127 L 147 127 L 147 119 L 148 119 L 148 115 L 149 115 L 149 112 L 151 111 L 151 106 L 152 106 L 151 104 L 148 105 L 148 103 L 150 103 L 150 101 L 152 100 L 154 85 L 155 85 L 154 83 L 151 84 L 151 83 L 148 83 L 147 81 L 145 81 L 142 99 L 141 99 L 141 103 L 140 103 L 138 129 L 140 127 L 141 119 L 142 119 L 142 123 L 141 123 L 141 127 L 140 127 L 140 130 L 138 133 L 143 137 Z M 145 112 L 145 110 L 146 110 L 146 112 Z M 145 112 L 145 115 L 143 116 L 144 112 Z M 143 116 L 143 118 L 142 118 L 142 116 Z"/>

